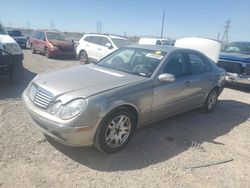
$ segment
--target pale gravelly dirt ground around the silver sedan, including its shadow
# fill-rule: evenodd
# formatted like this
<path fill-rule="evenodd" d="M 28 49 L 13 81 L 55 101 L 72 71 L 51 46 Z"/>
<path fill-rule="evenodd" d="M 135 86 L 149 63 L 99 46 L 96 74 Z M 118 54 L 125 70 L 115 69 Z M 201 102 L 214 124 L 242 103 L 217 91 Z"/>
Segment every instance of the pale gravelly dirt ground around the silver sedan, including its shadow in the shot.
<path fill-rule="evenodd" d="M 250 187 L 250 92 L 226 88 L 210 114 L 142 128 L 119 153 L 63 146 L 32 125 L 20 99 L 40 72 L 75 66 L 24 50 L 26 78 L 0 79 L 0 187 Z M 197 164 L 228 163 L 186 169 Z"/>

